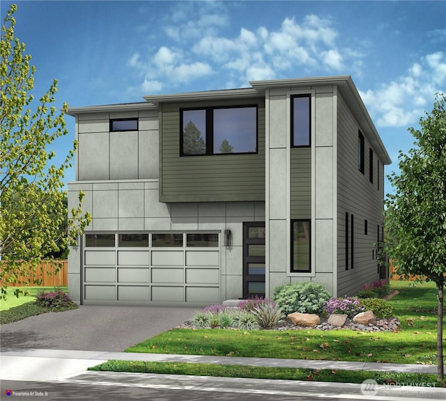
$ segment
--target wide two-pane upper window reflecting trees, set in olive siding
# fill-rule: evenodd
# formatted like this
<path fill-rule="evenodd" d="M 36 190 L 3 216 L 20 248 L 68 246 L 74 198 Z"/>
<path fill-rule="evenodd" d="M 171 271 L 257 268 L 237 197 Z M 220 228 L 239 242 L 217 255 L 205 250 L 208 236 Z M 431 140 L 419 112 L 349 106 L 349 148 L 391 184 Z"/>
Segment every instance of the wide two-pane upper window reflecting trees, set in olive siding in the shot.
<path fill-rule="evenodd" d="M 180 110 L 180 155 L 257 152 L 257 107 Z"/>

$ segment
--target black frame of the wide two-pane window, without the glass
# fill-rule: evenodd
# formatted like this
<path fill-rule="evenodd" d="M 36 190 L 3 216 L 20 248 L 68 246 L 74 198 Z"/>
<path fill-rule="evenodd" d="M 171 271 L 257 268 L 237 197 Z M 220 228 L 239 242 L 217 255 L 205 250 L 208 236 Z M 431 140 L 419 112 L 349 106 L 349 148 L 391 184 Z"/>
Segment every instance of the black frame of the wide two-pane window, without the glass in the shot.
<path fill-rule="evenodd" d="M 214 153 L 214 110 L 220 109 L 256 109 L 256 151 L 255 152 L 231 152 Z M 183 111 L 204 110 L 206 111 L 206 152 L 197 155 L 188 155 L 183 152 Z M 258 155 L 259 154 L 259 104 L 235 104 L 229 106 L 213 107 L 182 107 L 180 108 L 180 157 L 199 157 L 199 156 L 225 156 L 225 155 Z"/>

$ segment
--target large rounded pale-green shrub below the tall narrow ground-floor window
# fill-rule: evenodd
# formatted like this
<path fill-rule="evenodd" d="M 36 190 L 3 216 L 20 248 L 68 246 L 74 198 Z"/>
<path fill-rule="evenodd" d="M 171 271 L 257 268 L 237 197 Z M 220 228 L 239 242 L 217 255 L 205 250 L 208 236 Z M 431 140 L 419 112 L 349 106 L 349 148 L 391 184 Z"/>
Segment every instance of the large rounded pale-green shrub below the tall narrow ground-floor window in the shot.
<path fill-rule="evenodd" d="M 299 281 L 275 288 L 273 301 L 284 315 L 293 312 L 322 313 L 330 292 L 321 283 Z"/>

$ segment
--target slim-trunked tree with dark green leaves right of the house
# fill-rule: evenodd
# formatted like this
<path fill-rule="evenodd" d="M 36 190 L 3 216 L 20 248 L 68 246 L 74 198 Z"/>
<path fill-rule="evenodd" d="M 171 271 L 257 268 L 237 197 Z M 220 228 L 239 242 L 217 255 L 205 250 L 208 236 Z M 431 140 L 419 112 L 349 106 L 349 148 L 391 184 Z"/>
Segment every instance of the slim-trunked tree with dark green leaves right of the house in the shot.
<path fill-rule="evenodd" d="M 410 128 L 415 148 L 399 152 L 400 173 L 389 176 L 386 230 L 392 243 L 385 251 L 404 278 L 420 275 L 436 283 L 438 292 L 438 380 L 443 382 L 443 294 L 446 274 L 446 111 L 438 94 L 431 113 Z"/>

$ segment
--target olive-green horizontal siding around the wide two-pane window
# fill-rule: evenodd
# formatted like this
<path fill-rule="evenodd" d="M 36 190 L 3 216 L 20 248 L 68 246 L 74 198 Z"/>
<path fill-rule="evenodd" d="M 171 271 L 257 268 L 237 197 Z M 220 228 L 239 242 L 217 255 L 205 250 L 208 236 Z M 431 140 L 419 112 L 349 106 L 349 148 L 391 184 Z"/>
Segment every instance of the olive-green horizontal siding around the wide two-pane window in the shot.
<path fill-rule="evenodd" d="M 236 107 L 246 104 L 258 105 L 257 154 L 180 157 L 180 108 Z M 264 200 L 265 102 L 263 99 L 163 104 L 161 113 L 161 201 Z M 222 195 L 223 198 L 218 198 Z"/>

